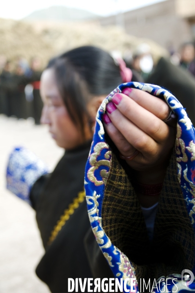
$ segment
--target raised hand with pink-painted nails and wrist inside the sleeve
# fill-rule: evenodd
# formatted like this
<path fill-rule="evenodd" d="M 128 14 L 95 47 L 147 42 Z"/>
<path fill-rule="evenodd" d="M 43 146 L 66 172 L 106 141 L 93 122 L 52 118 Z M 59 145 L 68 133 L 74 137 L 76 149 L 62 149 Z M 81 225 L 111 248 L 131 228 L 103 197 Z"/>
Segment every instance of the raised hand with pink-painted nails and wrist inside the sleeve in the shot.
<path fill-rule="evenodd" d="M 163 122 L 170 112 L 161 99 L 131 88 L 115 94 L 107 105 L 105 128 L 121 155 L 132 156 L 126 162 L 139 182 L 157 184 L 164 179 L 176 135 L 176 128 Z"/>

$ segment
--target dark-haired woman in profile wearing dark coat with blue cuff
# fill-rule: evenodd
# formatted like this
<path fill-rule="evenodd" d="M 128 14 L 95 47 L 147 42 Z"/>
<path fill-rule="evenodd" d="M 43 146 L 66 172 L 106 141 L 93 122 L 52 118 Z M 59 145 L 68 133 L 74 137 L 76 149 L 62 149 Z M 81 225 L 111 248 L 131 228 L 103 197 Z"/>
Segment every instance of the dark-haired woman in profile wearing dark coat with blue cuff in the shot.
<path fill-rule="evenodd" d="M 57 145 L 65 148 L 65 155 L 51 174 L 45 174 L 46 168 L 40 163 L 37 170 L 34 157 L 30 160 L 20 148 L 15 154 L 21 153 L 22 162 L 28 156 L 28 166 L 21 167 L 21 184 L 28 182 L 21 189 L 27 192 L 25 196 L 21 192 L 18 195 L 36 210 L 45 248 L 36 273 L 52 293 L 67 292 L 68 278 L 92 277 L 84 247 L 84 237 L 90 229 L 84 192 L 85 165 L 99 106 L 114 87 L 130 81 L 131 76 L 123 61 L 117 65 L 107 52 L 92 46 L 52 59 L 43 71 L 41 122 L 49 126 Z M 17 156 L 11 156 L 7 176 L 8 188 L 15 193 L 18 182 L 14 189 L 13 161 L 18 176 Z M 40 177 L 41 173 L 44 175 Z M 103 263 L 107 275 L 111 274 L 104 258 Z"/>

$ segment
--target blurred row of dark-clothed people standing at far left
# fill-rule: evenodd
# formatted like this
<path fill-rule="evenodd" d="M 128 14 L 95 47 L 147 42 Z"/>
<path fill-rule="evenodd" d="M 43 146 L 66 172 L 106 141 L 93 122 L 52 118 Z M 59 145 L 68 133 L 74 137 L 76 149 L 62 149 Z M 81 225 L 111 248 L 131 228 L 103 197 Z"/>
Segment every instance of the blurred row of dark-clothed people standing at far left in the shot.
<path fill-rule="evenodd" d="M 0 56 L 0 114 L 18 119 L 33 117 L 40 124 L 43 103 L 40 97 L 41 60 L 38 57 L 28 63 L 19 57 L 17 61 Z"/>

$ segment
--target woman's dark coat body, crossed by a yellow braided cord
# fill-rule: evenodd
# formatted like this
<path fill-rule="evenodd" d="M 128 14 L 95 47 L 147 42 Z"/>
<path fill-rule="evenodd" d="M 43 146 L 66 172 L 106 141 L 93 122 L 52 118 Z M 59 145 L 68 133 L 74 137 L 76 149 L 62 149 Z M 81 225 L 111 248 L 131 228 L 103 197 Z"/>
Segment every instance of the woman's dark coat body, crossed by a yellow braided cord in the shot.
<path fill-rule="evenodd" d="M 90 228 L 86 200 L 75 209 L 56 239 L 48 245 L 51 231 L 60 216 L 72 203 L 73 198 L 77 197 L 78 192 L 84 189 L 89 150 L 90 144 L 66 151 L 53 173 L 42 176 L 31 189 L 30 199 L 36 210 L 45 248 L 36 273 L 52 293 L 67 292 L 68 278 L 95 278 L 100 274 L 102 277 L 113 276 Z M 93 274 L 93 258 L 97 253 L 100 255 L 99 264 L 104 268 L 103 275 L 96 267 L 94 269 L 97 272 Z"/>

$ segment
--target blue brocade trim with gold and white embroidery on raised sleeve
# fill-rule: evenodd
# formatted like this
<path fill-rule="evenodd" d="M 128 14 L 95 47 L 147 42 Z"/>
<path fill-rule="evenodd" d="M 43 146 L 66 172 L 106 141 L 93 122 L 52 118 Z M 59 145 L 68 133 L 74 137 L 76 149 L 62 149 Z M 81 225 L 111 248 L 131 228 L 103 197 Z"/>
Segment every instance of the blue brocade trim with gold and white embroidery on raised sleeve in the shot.
<path fill-rule="evenodd" d="M 85 189 L 87 198 L 87 209 L 92 230 L 102 250 L 104 256 L 108 260 L 108 264 L 115 276 L 115 278 L 134 278 L 134 283 L 127 282 L 126 286 L 130 292 L 139 292 L 138 279 L 134 270 L 133 263 L 128 257 L 115 247 L 104 228 L 102 227 L 102 206 L 104 200 L 105 187 L 109 177 L 109 171 L 112 162 L 112 150 L 105 140 L 105 130 L 102 123 L 102 115 L 106 111 L 106 105 L 112 100 L 115 93 L 120 93 L 124 88 L 132 87 L 150 93 L 153 96 L 164 98 L 170 108 L 178 116 L 177 135 L 176 135 L 176 160 L 178 181 L 185 200 L 185 206 L 191 225 L 195 231 L 195 129 L 188 118 L 185 109 L 179 101 L 167 90 L 157 85 L 141 84 L 141 83 L 127 83 L 119 85 L 110 95 L 103 101 L 96 116 L 95 133 L 91 150 L 89 153 L 86 175 L 85 175 Z M 135 239 L 136 241 L 136 239 Z M 194 243 L 193 243 L 194 245 Z M 192 247 L 194 247 L 192 245 Z M 193 252 L 195 254 L 195 251 Z M 178 255 L 178 257 L 180 257 Z M 187 268 L 183 268 L 187 269 Z M 195 274 L 194 267 L 191 269 Z M 182 272 L 181 272 L 182 273 Z M 176 278 L 176 281 L 171 285 L 167 285 L 169 292 L 195 292 L 195 282 L 192 284 L 183 281 L 181 274 L 172 274 L 172 276 L 164 276 L 165 278 Z M 161 288 L 166 286 L 165 283 L 158 282 L 158 289 L 153 289 L 153 292 L 159 292 Z M 174 285 L 174 283 L 176 285 Z M 125 283 L 124 283 L 125 284 Z M 133 286 L 130 286 L 132 285 Z M 187 285 L 187 286 L 186 286 Z M 176 291 L 176 288 L 178 288 Z M 132 291 L 135 290 L 135 291 Z M 166 292 L 166 290 L 165 290 Z"/>

